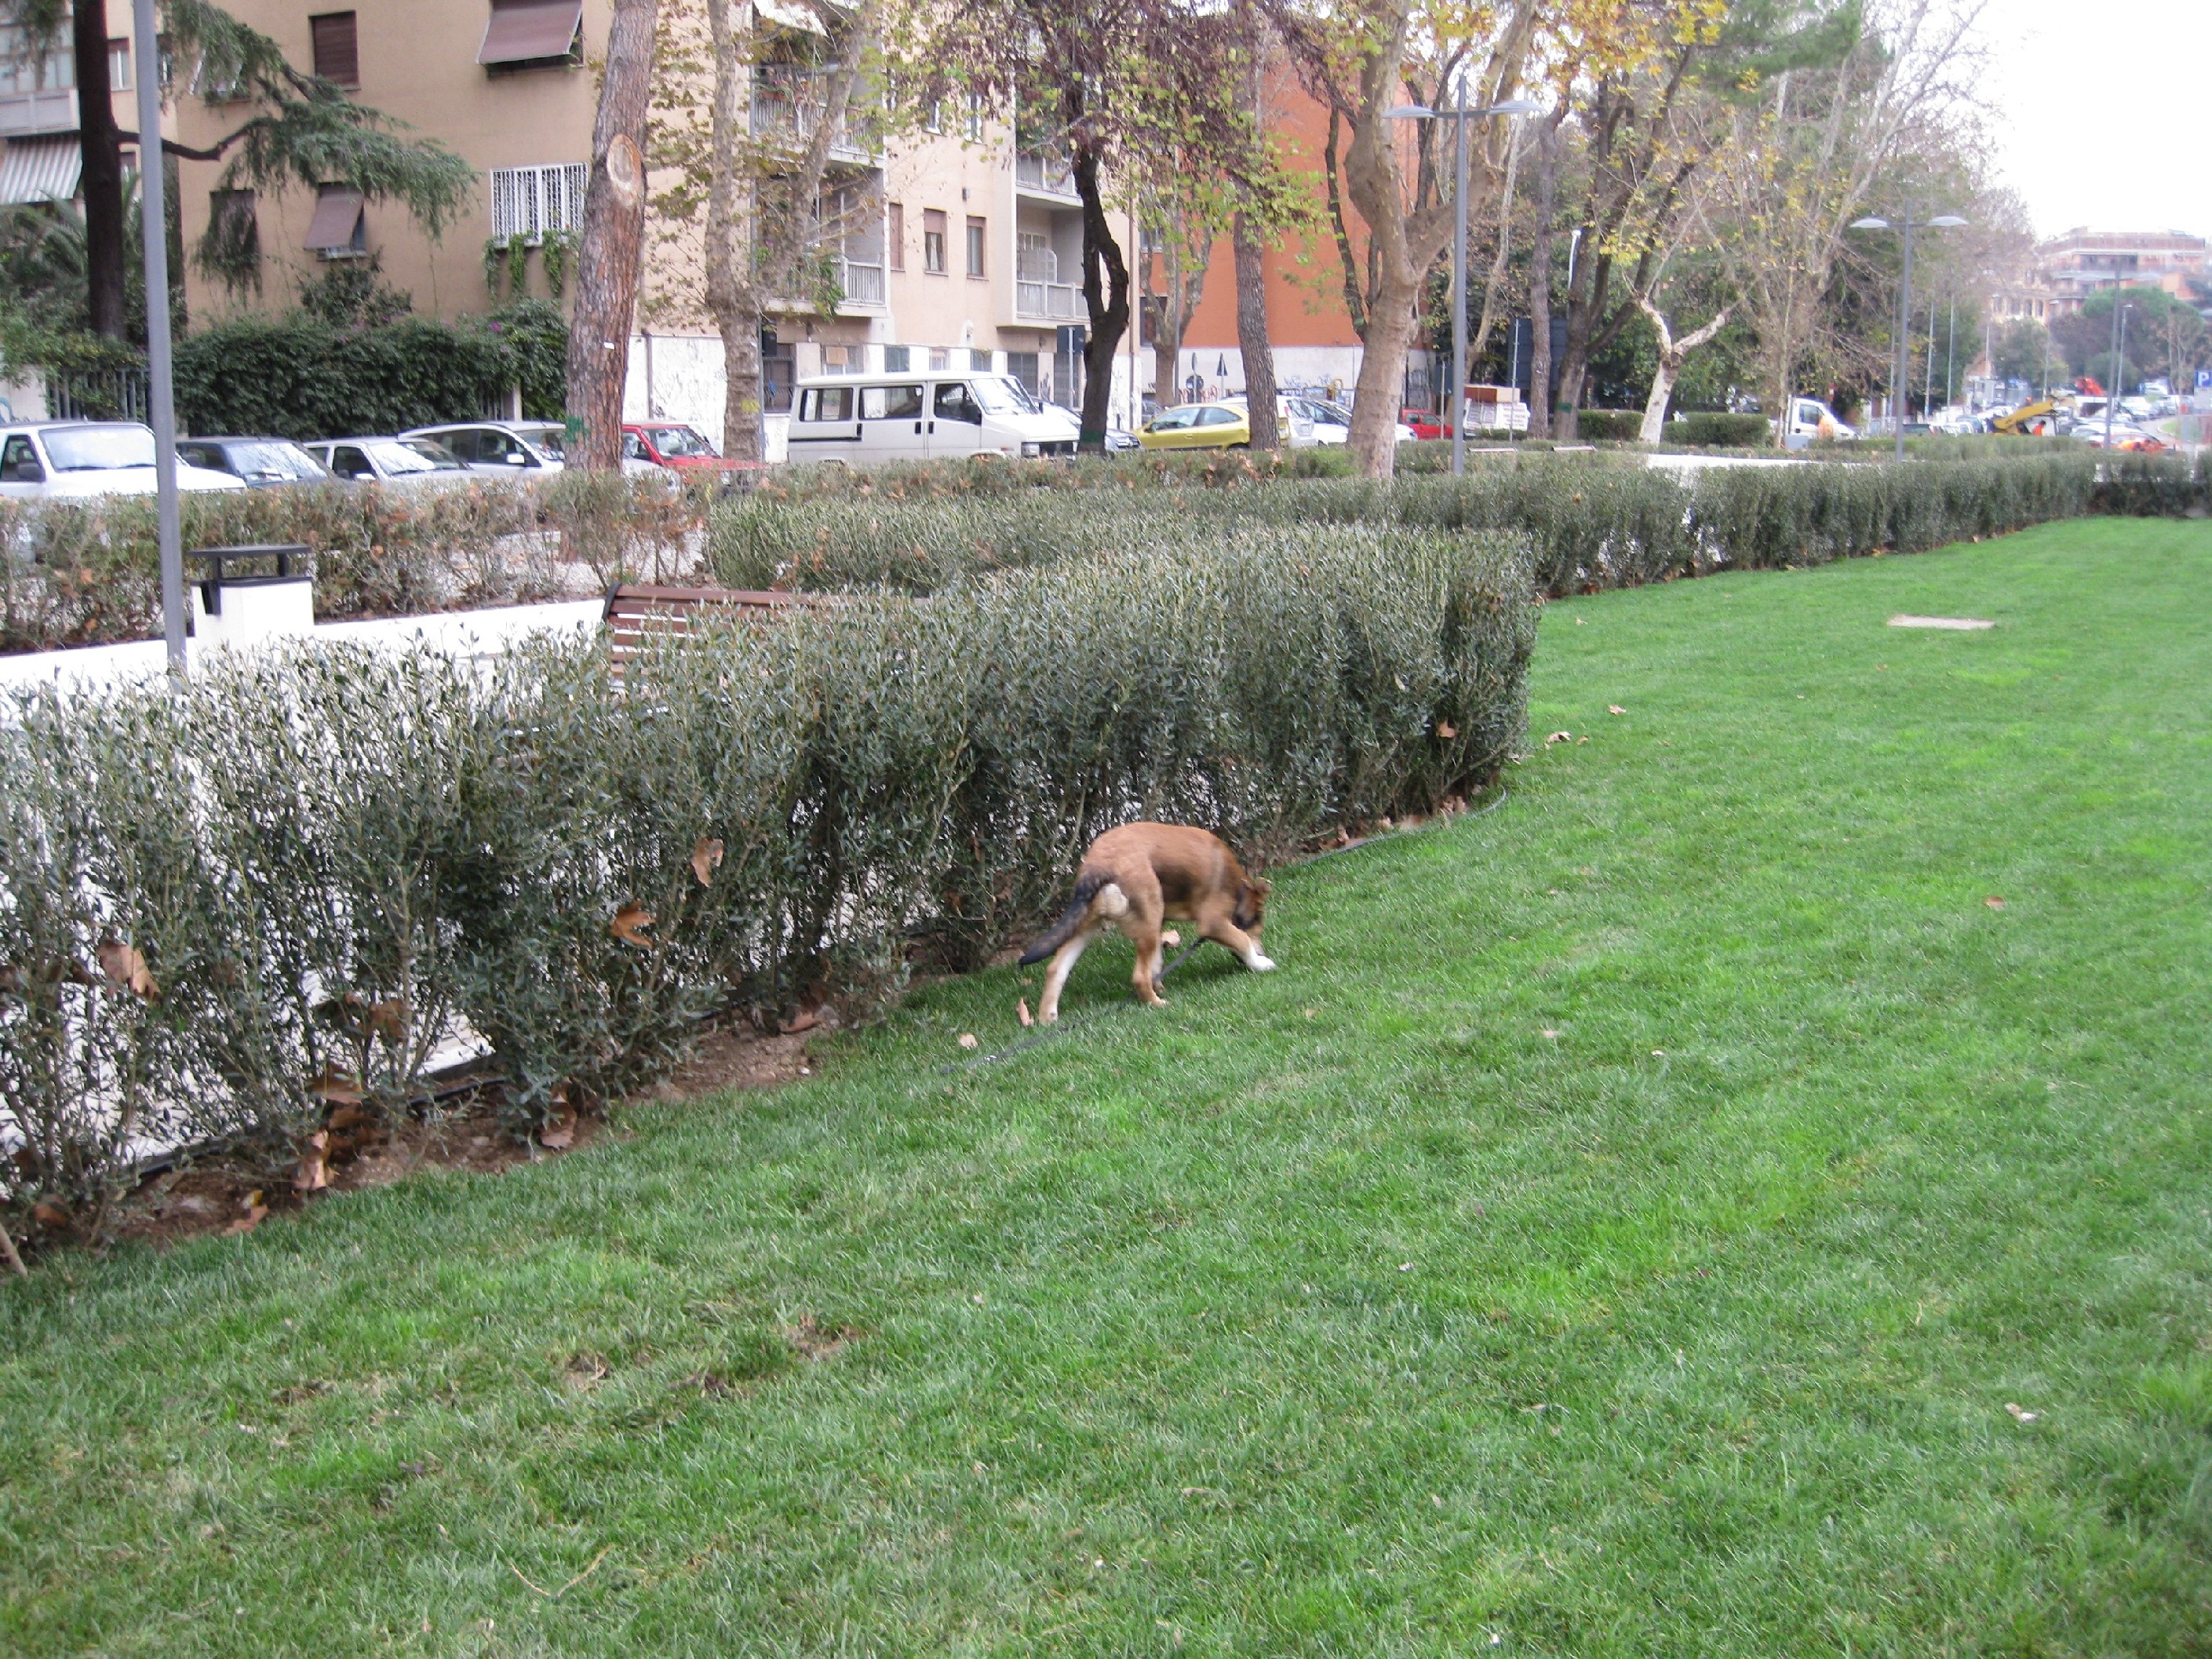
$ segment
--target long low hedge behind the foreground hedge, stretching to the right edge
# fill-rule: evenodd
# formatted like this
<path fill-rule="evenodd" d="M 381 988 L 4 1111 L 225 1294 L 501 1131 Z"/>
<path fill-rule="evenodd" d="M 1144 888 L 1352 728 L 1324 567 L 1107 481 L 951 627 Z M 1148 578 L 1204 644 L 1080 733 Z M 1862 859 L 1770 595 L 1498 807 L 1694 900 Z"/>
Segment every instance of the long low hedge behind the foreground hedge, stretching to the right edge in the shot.
<path fill-rule="evenodd" d="M 1232 542 L 1263 524 L 1509 529 L 1559 595 L 1721 568 L 1820 564 L 2081 513 L 2201 513 L 2212 471 L 2088 451 L 1869 467 L 1705 467 L 1692 473 L 1555 456 L 1464 478 L 1276 480 L 1265 489 L 1006 491 L 896 500 L 730 502 L 710 557 L 732 586 L 933 593 L 998 568 L 1110 551 L 1133 535 Z"/>

